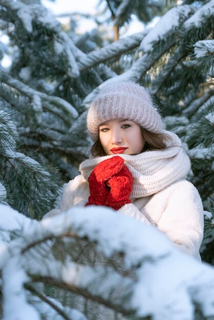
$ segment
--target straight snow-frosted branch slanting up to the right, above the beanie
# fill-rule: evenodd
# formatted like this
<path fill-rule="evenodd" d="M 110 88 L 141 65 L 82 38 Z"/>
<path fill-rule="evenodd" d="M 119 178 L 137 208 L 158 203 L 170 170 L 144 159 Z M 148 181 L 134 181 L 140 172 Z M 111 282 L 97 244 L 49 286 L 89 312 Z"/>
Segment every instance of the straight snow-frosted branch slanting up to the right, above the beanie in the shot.
<path fill-rule="evenodd" d="M 146 33 L 147 32 L 139 32 L 120 38 L 118 41 L 108 44 L 104 48 L 90 52 L 77 62 L 80 72 L 138 47 Z"/>

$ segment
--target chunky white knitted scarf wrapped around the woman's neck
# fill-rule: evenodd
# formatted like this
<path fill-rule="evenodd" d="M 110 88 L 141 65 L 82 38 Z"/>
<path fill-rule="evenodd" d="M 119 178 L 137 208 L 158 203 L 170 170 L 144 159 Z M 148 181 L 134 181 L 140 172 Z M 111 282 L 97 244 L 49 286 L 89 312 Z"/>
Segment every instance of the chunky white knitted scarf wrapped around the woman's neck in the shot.
<path fill-rule="evenodd" d="M 146 151 L 137 155 L 118 154 L 124 159 L 124 164 L 133 176 L 133 189 L 131 198 L 140 198 L 153 195 L 173 182 L 185 178 L 190 169 L 190 160 L 186 152 L 180 147 L 181 140 L 171 132 L 163 130 L 170 135 L 174 147 L 158 151 Z M 166 145 L 170 145 L 166 142 Z M 115 155 L 91 157 L 83 161 L 79 171 L 87 180 L 92 170 L 104 159 Z"/>

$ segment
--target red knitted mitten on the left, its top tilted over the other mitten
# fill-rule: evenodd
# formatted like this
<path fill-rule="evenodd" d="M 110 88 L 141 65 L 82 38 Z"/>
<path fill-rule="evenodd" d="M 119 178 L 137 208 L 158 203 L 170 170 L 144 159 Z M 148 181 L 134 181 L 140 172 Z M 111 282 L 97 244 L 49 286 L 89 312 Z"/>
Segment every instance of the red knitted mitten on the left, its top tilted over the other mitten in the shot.
<path fill-rule="evenodd" d="M 105 181 L 118 173 L 124 164 L 124 160 L 120 156 L 114 156 L 100 162 L 90 174 L 89 191 L 90 196 L 87 204 L 106 205 L 106 198 L 110 192 L 110 188 Z"/>

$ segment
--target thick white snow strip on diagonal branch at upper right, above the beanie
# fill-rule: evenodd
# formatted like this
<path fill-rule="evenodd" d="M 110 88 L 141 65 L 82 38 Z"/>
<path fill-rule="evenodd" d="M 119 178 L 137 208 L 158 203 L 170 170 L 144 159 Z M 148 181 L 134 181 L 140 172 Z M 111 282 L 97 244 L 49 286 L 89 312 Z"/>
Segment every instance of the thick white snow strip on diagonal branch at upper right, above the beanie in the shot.
<path fill-rule="evenodd" d="M 143 38 L 139 50 L 143 52 L 151 52 L 156 42 L 167 40 L 167 34 L 172 34 L 178 31 L 183 21 L 194 12 L 191 6 L 183 5 L 167 11 L 163 17 L 157 22 L 155 27 Z"/>

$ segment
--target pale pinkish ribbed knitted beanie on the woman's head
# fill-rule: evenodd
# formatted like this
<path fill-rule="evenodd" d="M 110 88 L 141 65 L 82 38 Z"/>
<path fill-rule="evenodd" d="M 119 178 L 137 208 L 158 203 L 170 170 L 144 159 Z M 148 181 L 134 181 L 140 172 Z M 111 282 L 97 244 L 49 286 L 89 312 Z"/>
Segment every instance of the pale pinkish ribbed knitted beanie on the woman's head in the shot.
<path fill-rule="evenodd" d="M 87 128 L 93 141 L 99 137 L 99 125 L 113 119 L 129 119 L 151 132 L 161 132 L 161 116 L 147 90 L 134 82 L 110 82 L 103 85 L 87 115 Z"/>

